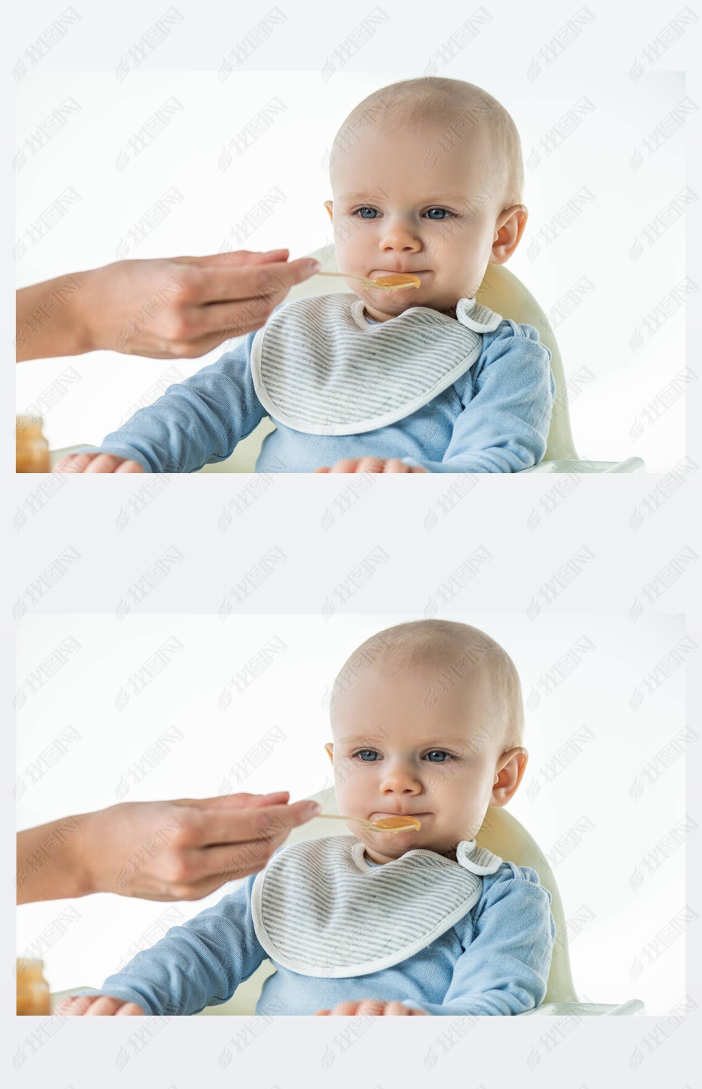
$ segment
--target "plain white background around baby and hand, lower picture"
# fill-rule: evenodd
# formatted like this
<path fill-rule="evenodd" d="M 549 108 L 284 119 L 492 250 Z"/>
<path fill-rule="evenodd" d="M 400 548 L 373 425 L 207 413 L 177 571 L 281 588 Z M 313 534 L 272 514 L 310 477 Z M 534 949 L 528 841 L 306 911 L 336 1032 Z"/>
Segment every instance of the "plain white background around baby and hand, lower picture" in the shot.
<path fill-rule="evenodd" d="M 331 786 L 323 745 L 331 739 L 327 707 L 333 678 L 354 647 L 409 619 L 415 617 L 361 614 L 325 621 L 319 614 L 245 614 L 222 625 L 218 616 L 193 615 L 131 616 L 122 623 L 113 615 L 24 617 L 20 684 L 69 634 L 83 649 L 20 711 L 21 827 L 118 800 L 209 797 L 237 790 L 290 790 L 296 800 Z M 566 920 L 582 917 L 583 907 L 586 916 L 594 915 L 574 925 L 571 935 L 579 995 L 611 1003 L 639 998 L 646 1015 L 662 1015 L 685 989 L 685 938 L 673 940 L 673 927 L 668 947 L 658 947 L 663 955 L 654 958 L 642 949 L 683 908 L 685 845 L 653 871 L 641 859 L 685 818 L 685 752 L 660 778 L 642 768 L 685 730 L 685 670 L 650 696 L 641 689 L 641 677 L 683 637 L 681 619 L 650 616 L 632 623 L 621 615 L 561 615 L 543 617 L 538 634 L 525 615 L 458 613 L 452 619 L 488 631 L 512 654 L 521 676 L 530 759 L 510 811 L 546 857 L 583 816 L 595 825 L 571 854 L 553 856 Z M 172 637 L 183 649 L 140 688 L 130 678 Z M 274 637 L 286 649 L 256 680 L 248 674 L 247 686 L 233 684 Z M 565 664 L 554 669 L 583 637 L 594 649 L 582 652 L 580 664 L 572 672 Z M 644 698 L 632 709 L 637 688 Z M 67 745 L 52 768 L 36 764 L 69 725 L 79 739 Z M 146 775 L 144 763 L 141 771 L 130 771 L 172 726 L 183 739 Z M 245 755 L 273 726 L 285 739 L 250 772 Z M 591 741 L 582 741 L 583 726 Z M 574 757 L 567 743 L 577 733 L 581 741 Z M 183 918 L 221 895 L 178 905 Z M 82 918 L 67 925 L 46 955 L 53 990 L 99 987 L 167 907 L 107 894 L 72 903 Z M 53 902 L 22 908 L 17 949 L 30 945 L 66 906 Z"/>

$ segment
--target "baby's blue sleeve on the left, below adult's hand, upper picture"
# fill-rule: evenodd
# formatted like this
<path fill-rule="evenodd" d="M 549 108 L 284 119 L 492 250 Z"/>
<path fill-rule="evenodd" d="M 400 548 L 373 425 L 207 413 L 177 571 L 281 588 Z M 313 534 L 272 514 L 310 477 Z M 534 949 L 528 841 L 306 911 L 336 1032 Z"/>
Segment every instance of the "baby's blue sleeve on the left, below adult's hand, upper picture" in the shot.
<path fill-rule="evenodd" d="M 255 335 L 135 412 L 104 437 L 100 452 L 136 461 L 147 473 L 195 473 L 229 457 L 267 415 L 249 365 Z"/>

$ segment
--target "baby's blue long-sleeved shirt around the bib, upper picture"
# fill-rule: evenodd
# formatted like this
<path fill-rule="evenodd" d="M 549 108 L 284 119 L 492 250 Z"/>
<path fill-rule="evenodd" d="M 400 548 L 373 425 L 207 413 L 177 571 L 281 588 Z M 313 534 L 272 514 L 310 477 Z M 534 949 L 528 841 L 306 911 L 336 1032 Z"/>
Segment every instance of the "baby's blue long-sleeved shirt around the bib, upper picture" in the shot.
<path fill-rule="evenodd" d="M 147 473 L 194 473 L 224 461 L 268 415 L 251 378 L 255 335 L 171 386 L 108 435 L 100 451 L 134 460 Z M 551 352 L 532 326 L 509 320 L 482 338 L 469 370 L 395 424 L 359 435 L 308 435 L 271 417 L 275 430 L 263 440 L 256 470 L 311 473 L 367 455 L 430 473 L 518 473 L 538 464 L 555 393 Z"/>

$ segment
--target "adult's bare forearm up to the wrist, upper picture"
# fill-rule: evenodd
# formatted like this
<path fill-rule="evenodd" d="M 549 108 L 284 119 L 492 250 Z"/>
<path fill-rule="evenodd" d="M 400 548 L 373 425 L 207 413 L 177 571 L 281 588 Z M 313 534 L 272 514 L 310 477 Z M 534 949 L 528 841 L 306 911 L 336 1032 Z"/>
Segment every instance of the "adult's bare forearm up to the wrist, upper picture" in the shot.
<path fill-rule="evenodd" d="M 85 321 L 89 277 L 89 272 L 73 272 L 17 291 L 17 363 L 93 350 Z"/>

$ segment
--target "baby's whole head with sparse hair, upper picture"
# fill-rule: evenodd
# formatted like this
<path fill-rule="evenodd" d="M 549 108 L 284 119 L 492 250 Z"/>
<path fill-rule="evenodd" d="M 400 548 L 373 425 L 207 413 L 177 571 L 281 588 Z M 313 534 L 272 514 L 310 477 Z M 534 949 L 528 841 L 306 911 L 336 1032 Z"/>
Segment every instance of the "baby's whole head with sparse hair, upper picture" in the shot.
<path fill-rule="evenodd" d="M 405 79 L 365 98 L 334 138 L 330 180 L 338 268 L 421 280 L 392 292 L 349 280 L 377 321 L 410 306 L 455 316 L 488 265 L 510 257 L 527 221 L 515 123 L 492 95 L 461 79 Z"/>

